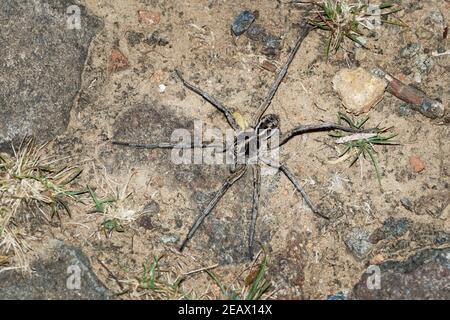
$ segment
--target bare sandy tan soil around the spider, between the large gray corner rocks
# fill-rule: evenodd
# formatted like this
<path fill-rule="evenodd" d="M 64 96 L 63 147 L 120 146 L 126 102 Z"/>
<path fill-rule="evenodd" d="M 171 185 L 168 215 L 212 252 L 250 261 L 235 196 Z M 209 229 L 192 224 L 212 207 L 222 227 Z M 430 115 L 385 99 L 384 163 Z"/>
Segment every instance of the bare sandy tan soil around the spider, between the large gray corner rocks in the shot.
<path fill-rule="evenodd" d="M 419 43 L 421 53 L 428 56 L 438 48 L 448 50 L 450 37 L 443 40 L 442 32 L 450 21 L 450 2 L 397 2 L 406 8 L 399 16 L 410 28 L 383 26 L 369 39 L 372 50 L 347 44 L 347 51 L 339 50 L 327 63 L 325 34 L 318 30 L 310 33 L 268 111 L 280 116 L 282 131 L 297 124 L 335 121 L 343 107 L 333 91 L 332 77 L 342 68 L 356 66 L 366 70 L 380 66 L 439 98 L 448 108 L 449 56 L 433 57 L 428 68 L 423 61 L 402 56 L 401 50 L 411 43 Z M 103 19 L 104 28 L 91 43 L 69 127 L 56 137 L 51 149 L 83 166 L 80 185 L 96 185 L 97 193 L 105 197 L 116 190 L 122 195 L 131 193 L 116 204 L 131 222 L 125 225 L 125 232 L 107 238 L 98 232 L 105 217 L 88 214 L 80 206 L 72 210 L 73 218 L 64 221 L 64 228 L 42 226 L 45 232 L 36 235 L 32 247 L 38 251 L 48 238 L 80 246 L 107 287 L 114 292 L 129 289 L 120 296 L 123 299 L 155 297 L 151 290 L 134 290 L 133 279 L 142 274 L 145 261 L 161 255 L 161 270 L 169 280 L 218 264 L 214 272 L 223 283 L 240 290 L 253 265 L 246 255 L 251 175 L 231 188 L 179 253 L 177 246 L 226 179 L 228 168 L 174 165 L 169 151 L 135 150 L 113 146 L 111 141 L 169 141 L 174 129 L 191 128 L 195 119 L 201 120 L 204 128 L 227 129 L 221 114 L 183 87 L 175 68 L 251 119 L 275 78 L 274 72 L 262 68 L 264 61 L 278 68 L 283 65 L 298 23 L 307 13 L 300 5 L 272 0 L 82 0 L 80 4 Z M 282 38 L 279 54 L 268 57 L 247 37 L 231 35 L 230 25 L 244 9 L 257 10 L 258 23 Z M 140 21 L 140 10 L 160 15 L 159 21 Z M 139 33 L 147 37 L 155 31 L 168 43 L 149 45 L 136 40 Z M 111 67 L 113 49 L 128 59 L 128 68 Z M 403 104 L 386 93 L 369 113 L 370 125 L 392 126 L 401 143 L 377 148 L 382 188 L 367 160 L 352 167 L 348 162 L 330 163 L 339 150 L 326 133 L 299 136 L 283 147 L 282 161 L 331 219 L 312 214 L 284 176 L 263 178 L 256 238 L 269 259 L 266 276 L 272 284 L 271 298 L 349 295 L 371 264 L 404 260 L 423 249 L 450 245 L 448 240 L 437 239 L 437 235 L 450 232 L 449 118 L 431 120 L 404 112 Z M 413 170 L 412 156 L 422 159 L 423 171 Z M 408 199 L 412 210 L 405 208 L 401 199 Z M 373 235 L 389 218 L 406 218 L 413 227 L 400 237 L 372 242 L 362 256 L 349 248 L 356 233 Z M 204 272 L 189 275 L 182 288 L 194 297 L 221 296 Z"/>

